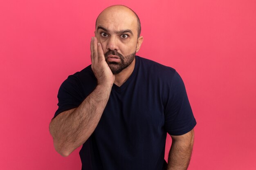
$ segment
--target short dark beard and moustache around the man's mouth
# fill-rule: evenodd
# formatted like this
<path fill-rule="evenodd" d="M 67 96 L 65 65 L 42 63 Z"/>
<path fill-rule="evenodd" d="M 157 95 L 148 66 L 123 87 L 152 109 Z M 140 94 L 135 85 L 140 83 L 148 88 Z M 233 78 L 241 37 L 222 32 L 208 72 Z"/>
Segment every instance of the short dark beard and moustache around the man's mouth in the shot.
<path fill-rule="evenodd" d="M 135 58 L 135 53 L 136 53 L 136 51 L 134 53 L 124 57 L 117 51 L 109 50 L 104 55 L 105 55 L 105 59 L 106 59 L 106 62 L 108 63 L 110 70 L 112 71 L 112 73 L 114 75 L 116 75 L 116 74 L 119 74 L 121 71 L 123 71 L 128 66 L 130 66 L 130 64 L 132 63 L 132 61 Z M 108 55 L 117 55 L 120 58 L 121 62 L 119 62 L 119 63 L 118 62 L 108 62 L 107 61 Z"/>

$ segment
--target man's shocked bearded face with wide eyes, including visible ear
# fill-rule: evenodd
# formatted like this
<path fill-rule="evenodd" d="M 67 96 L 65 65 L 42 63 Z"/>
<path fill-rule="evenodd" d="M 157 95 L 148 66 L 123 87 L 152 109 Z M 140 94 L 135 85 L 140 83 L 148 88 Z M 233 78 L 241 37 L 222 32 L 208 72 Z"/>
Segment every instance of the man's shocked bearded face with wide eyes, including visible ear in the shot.
<path fill-rule="evenodd" d="M 114 9 L 113 9 L 114 8 Z M 137 18 L 127 9 L 105 9 L 98 17 L 95 36 L 102 45 L 113 74 L 135 64 L 142 37 L 137 38 Z"/>

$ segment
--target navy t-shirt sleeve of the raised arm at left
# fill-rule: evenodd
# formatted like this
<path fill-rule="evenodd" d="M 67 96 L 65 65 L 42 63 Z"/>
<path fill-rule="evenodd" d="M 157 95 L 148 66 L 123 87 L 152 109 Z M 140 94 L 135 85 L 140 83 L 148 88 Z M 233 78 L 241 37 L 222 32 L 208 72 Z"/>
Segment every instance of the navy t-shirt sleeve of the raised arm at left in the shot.
<path fill-rule="evenodd" d="M 84 100 L 82 94 L 79 79 L 74 75 L 67 77 L 58 91 L 58 110 L 56 110 L 54 117 L 66 110 L 78 107 Z"/>

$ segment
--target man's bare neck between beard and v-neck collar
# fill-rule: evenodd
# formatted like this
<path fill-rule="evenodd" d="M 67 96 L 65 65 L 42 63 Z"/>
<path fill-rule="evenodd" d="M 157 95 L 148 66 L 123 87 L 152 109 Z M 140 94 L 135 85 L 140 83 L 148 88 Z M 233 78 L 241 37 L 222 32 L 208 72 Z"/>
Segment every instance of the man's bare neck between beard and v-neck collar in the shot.
<path fill-rule="evenodd" d="M 134 67 L 135 67 L 135 58 L 128 67 L 126 67 L 123 71 L 121 71 L 120 73 L 115 75 L 114 84 L 119 86 L 119 87 L 122 86 L 124 84 L 124 82 L 126 82 L 126 80 L 132 74 L 132 71 L 134 70 Z"/>

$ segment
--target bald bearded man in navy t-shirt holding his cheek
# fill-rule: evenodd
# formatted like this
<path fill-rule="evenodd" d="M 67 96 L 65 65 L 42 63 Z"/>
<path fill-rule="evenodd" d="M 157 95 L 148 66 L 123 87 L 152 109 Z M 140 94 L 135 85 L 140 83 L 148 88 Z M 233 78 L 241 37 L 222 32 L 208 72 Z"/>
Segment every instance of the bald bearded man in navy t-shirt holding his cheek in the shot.
<path fill-rule="evenodd" d="M 196 121 L 182 79 L 135 56 L 143 42 L 136 13 L 108 7 L 96 21 L 91 66 L 58 92 L 49 129 L 63 156 L 81 146 L 83 170 L 186 170 Z M 168 165 L 166 132 L 172 139 Z"/>

